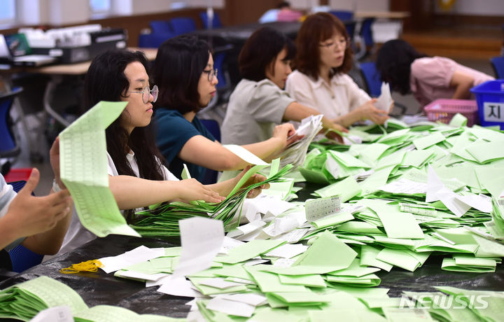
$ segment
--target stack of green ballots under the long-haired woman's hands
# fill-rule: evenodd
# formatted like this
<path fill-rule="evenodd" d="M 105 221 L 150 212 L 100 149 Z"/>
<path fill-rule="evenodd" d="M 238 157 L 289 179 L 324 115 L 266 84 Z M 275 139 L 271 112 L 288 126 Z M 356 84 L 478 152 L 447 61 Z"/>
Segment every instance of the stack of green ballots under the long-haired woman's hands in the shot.
<path fill-rule="evenodd" d="M 130 226 L 142 236 L 179 236 L 179 220 L 193 216 L 203 216 L 223 221 L 225 230 L 230 231 L 239 222 L 241 207 L 247 193 L 265 183 L 283 181 L 283 176 L 292 168 L 291 165 L 286 165 L 279 170 L 276 167 L 276 170 L 270 172 L 269 177 L 265 181 L 241 188 L 253 174 L 256 174 L 260 169 L 264 169 L 265 167 L 265 165 L 255 165 L 249 169 L 223 202 L 209 204 L 207 202 L 195 201 L 190 204 L 183 202 L 160 204 L 148 211 L 138 212 L 137 214 L 141 215 L 141 217 Z M 237 221 L 232 221 L 235 217 L 237 217 Z"/>

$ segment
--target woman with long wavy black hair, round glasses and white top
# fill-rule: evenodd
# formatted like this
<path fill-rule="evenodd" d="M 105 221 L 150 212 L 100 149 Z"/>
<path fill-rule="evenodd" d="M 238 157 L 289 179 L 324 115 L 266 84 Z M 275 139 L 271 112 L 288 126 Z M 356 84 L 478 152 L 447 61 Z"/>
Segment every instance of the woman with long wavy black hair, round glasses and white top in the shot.
<path fill-rule="evenodd" d="M 100 101 L 127 102 L 123 113 L 106 128 L 109 186 L 119 209 L 130 219 L 134 211 L 167 201 L 204 200 L 221 202 L 236 186 L 241 176 L 204 186 L 195 179 L 177 179 L 162 165 L 162 155 L 151 132 L 153 102 L 158 89 L 151 90 L 148 61 L 143 52 L 111 50 L 95 57 L 85 76 L 85 106 L 90 109 Z M 254 175 L 245 183 L 260 182 Z M 262 187 L 265 188 L 265 187 Z M 252 190 L 255 197 L 260 189 Z M 71 251 L 96 238 L 83 228 L 73 214 L 70 228 L 59 253 Z"/>

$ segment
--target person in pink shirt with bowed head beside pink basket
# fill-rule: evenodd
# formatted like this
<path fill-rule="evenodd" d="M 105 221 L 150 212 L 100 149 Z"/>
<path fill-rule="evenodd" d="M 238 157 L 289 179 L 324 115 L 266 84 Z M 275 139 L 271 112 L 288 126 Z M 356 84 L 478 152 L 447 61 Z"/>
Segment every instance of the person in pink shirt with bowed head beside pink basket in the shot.
<path fill-rule="evenodd" d="M 435 99 L 470 99 L 471 87 L 494 79 L 447 57 L 423 55 L 402 39 L 381 46 L 376 66 L 391 90 L 412 93 L 422 106 Z"/>

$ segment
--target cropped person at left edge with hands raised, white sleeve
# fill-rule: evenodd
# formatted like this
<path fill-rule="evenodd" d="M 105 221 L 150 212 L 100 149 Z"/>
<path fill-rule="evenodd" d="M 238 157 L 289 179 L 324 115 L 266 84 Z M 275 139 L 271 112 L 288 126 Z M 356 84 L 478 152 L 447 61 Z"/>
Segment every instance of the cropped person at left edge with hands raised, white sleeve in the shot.
<path fill-rule="evenodd" d="M 63 186 L 59 178 L 59 141 L 50 150 L 50 161 L 58 190 Z M 0 249 L 10 251 L 22 244 L 30 251 L 52 255 L 59 251 L 69 226 L 72 201 L 68 190 L 35 197 L 31 195 L 38 184 L 40 173 L 33 169 L 25 186 L 18 194 L 0 174 Z M 8 268 L 9 264 L 1 263 Z"/>

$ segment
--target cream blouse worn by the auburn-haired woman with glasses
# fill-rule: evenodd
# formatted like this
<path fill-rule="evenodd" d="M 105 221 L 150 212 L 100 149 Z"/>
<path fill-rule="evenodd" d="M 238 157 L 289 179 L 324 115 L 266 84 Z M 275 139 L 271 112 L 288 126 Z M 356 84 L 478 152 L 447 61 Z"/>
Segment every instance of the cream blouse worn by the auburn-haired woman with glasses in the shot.
<path fill-rule="evenodd" d="M 314 80 L 293 71 L 287 78 L 286 92 L 296 102 L 316 109 L 329 119 L 344 116 L 371 99 L 346 73 L 333 76 L 328 84 L 321 77 Z"/>

